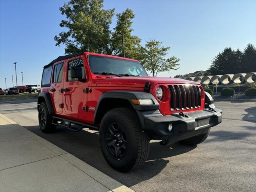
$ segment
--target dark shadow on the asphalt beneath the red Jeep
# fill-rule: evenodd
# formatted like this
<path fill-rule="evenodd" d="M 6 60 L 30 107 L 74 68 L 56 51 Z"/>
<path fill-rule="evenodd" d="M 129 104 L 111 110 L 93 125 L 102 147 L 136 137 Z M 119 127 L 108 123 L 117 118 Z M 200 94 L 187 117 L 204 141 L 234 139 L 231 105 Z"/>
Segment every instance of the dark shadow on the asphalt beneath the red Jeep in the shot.
<path fill-rule="evenodd" d="M 150 154 L 144 166 L 132 172 L 120 173 L 106 163 L 100 150 L 98 132 L 90 130 L 72 132 L 66 128 L 58 127 L 55 133 L 44 134 L 39 126 L 24 127 L 128 187 L 160 173 L 169 163 L 169 160 L 164 158 L 177 156 L 196 148 L 196 146 L 180 144 L 161 146 L 158 142 L 152 142 L 150 143 Z"/>

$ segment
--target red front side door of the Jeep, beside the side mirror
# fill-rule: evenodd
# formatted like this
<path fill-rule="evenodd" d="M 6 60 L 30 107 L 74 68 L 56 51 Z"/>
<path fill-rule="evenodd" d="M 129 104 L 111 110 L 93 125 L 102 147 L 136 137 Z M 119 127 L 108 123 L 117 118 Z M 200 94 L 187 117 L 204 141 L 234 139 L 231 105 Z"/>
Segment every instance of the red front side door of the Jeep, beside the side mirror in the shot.
<path fill-rule="evenodd" d="M 82 68 L 83 78 L 86 78 L 86 68 L 82 57 L 72 58 L 68 60 L 66 68 L 66 80 L 63 87 L 64 110 L 67 115 L 74 116 L 80 120 L 87 117 L 86 102 L 88 94 L 83 90 L 88 87 L 88 79 L 86 82 L 78 81 L 76 78 L 71 78 L 70 68 Z"/>

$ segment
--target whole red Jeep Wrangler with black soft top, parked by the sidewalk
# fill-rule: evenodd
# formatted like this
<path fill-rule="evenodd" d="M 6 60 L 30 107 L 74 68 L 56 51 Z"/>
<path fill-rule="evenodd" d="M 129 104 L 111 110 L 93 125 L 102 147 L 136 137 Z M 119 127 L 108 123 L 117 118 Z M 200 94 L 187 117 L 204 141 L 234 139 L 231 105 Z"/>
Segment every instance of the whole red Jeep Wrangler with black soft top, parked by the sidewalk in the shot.
<path fill-rule="evenodd" d="M 38 119 L 47 133 L 99 130 L 104 158 L 127 172 L 144 164 L 150 140 L 203 142 L 222 121 L 213 101 L 196 82 L 149 77 L 137 60 L 81 52 L 44 66 Z"/>

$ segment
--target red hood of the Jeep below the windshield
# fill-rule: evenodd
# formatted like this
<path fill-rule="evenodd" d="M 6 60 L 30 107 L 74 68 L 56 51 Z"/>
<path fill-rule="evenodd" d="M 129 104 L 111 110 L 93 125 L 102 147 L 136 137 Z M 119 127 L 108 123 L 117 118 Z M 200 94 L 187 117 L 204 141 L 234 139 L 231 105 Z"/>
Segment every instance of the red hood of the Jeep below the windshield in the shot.
<path fill-rule="evenodd" d="M 146 82 L 150 82 L 151 88 L 156 84 L 174 83 L 174 84 L 199 84 L 194 81 L 188 81 L 180 78 L 169 77 L 102 77 L 92 78 L 94 84 L 98 86 L 133 86 L 143 88 Z"/>

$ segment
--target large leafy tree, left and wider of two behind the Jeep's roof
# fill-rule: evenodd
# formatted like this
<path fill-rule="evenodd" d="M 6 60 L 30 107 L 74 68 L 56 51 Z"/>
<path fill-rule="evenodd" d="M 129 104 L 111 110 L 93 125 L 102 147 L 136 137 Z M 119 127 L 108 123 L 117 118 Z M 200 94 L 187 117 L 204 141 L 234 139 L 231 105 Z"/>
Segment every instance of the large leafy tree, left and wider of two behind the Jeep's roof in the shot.
<path fill-rule="evenodd" d="M 103 9 L 103 0 L 70 0 L 60 7 L 60 11 L 67 18 L 60 22 L 60 27 L 68 28 L 68 31 L 55 36 L 56 46 L 65 44 L 66 54 L 84 50 L 109 52 L 109 28 L 114 9 Z"/>

